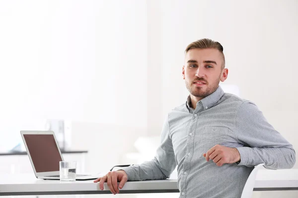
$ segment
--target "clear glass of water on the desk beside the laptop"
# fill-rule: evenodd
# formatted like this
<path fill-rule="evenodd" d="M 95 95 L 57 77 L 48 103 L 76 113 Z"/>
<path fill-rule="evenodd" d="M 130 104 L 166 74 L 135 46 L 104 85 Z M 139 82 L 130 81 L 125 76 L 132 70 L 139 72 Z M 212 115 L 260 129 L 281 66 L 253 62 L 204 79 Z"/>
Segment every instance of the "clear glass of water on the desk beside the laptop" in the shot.
<path fill-rule="evenodd" d="M 75 181 L 76 161 L 60 161 L 60 181 Z"/>

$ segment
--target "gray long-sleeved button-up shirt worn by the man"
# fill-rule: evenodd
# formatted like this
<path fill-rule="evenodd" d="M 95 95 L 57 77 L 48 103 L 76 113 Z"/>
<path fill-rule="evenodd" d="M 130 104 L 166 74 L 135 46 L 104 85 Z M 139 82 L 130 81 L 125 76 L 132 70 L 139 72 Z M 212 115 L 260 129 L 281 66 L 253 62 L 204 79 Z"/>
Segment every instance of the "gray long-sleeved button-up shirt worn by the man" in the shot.
<path fill-rule="evenodd" d="M 177 166 L 180 198 L 240 198 L 253 167 L 292 168 L 293 146 L 265 119 L 257 106 L 219 87 L 190 107 L 190 97 L 170 111 L 161 144 L 151 161 L 123 168 L 128 180 L 166 179 Z M 215 145 L 237 148 L 240 163 L 217 166 L 206 161 Z"/>

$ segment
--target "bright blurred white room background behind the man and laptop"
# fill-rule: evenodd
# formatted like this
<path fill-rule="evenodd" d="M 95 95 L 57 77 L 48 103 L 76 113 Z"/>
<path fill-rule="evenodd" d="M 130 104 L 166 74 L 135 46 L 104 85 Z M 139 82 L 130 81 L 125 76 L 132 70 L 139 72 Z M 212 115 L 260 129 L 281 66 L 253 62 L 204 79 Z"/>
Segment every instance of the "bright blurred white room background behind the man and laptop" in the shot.
<path fill-rule="evenodd" d="M 0 152 L 24 150 L 21 130 L 51 129 L 88 151 L 88 172 L 149 160 L 188 96 L 184 50 L 202 38 L 224 47 L 224 90 L 297 150 L 297 35 L 297 0 L 0 0 Z"/>

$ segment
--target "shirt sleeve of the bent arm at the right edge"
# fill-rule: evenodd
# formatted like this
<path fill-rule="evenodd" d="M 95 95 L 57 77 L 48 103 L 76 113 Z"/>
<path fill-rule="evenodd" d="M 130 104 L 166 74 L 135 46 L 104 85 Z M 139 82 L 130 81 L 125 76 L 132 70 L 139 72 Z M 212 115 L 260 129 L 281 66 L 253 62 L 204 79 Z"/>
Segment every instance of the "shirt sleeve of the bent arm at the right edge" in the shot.
<path fill-rule="evenodd" d="M 265 163 L 268 169 L 292 168 L 296 162 L 293 146 L 271 126 L 258 107 L 244 101 L 237 112 L 235 133 L 243 147 L 237 148 L 240 163 L 253 167 Z"/>

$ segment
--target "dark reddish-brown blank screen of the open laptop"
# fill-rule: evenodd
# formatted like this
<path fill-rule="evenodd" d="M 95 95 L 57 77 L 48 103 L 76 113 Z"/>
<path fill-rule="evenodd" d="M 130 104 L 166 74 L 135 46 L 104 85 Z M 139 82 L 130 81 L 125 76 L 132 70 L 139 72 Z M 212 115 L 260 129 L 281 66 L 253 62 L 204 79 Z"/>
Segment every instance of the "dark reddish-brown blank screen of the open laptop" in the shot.
<path fill-rule="evenodd" d="M 59 171 L 62 158 L 54 135 L 24 134 L 24 139 L 37 173 Z"/>

